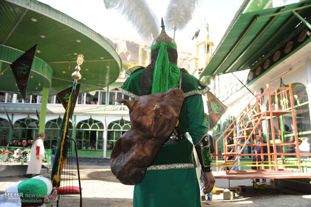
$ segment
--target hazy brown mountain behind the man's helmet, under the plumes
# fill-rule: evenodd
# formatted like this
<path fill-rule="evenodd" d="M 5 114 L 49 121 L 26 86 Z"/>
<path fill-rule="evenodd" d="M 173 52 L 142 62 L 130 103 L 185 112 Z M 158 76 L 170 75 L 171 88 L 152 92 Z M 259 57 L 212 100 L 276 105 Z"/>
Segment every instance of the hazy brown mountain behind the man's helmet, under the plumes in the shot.
<path fill-rule="evenodd" d="M 144 58 L 146 52 L 150 52 L 150 45 L 146 45 L 144 43 L 140 43 L 139 40 L 125 40 L 121 38 L 107 38 L 104 37 L 109 44 L 116 50 L 116 52 L 121 57 L 124 63 L 139 63 L 139 47 L 141 47 L 142 58 L 144 63 Z M 177 66 L 184 67 L 186 69 L 189 68 L 189 59 L 192 54 L 190 51 L 179 49 L 178 48 L 178 62 Z M 149 56 L 148 56 L 149 57 Z M 148 58 L 148 62 L 150 62 L 150 58 Z"/>

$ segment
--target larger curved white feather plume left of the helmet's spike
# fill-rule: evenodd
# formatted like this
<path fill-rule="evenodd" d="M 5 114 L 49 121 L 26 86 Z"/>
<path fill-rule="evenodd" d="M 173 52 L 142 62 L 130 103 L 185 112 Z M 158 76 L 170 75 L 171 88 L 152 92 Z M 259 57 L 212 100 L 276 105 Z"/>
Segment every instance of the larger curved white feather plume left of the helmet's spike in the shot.
<path fill-rule="evenodd" d="M 145 0 L 104 0 L 105 7 L 115 8 L 137 29 L 145 40 L 159 35 L 160 24 L 153 10 Z"/>

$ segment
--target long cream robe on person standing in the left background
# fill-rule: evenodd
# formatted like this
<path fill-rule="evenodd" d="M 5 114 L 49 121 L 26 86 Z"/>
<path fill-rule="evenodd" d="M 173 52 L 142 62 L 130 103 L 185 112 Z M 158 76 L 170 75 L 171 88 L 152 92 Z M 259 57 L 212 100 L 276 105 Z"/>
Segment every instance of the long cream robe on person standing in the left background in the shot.
<path fill-rule="evenodd" d="M 40 146 L 39 159 L 37 159 L 37 146 Z M 43 155 L 43 140 L 41 138 L 38 138 L 31 147 L 30 160 L 26 174 L 40 174 Z"/>

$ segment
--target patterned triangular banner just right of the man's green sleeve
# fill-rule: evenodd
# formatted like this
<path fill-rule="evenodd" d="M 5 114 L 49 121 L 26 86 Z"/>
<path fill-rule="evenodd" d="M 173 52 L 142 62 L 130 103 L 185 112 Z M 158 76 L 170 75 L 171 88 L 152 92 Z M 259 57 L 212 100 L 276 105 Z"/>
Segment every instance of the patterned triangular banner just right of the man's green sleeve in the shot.
<path fill-rule="evenodd" d="M 218 122 L 222 114 L 227 109 L 225 106 L 213 93 L 207 92 L 208 97 L 208 111 L 209 111 L 209 130 L 212 130 L 215 124 Z"/>

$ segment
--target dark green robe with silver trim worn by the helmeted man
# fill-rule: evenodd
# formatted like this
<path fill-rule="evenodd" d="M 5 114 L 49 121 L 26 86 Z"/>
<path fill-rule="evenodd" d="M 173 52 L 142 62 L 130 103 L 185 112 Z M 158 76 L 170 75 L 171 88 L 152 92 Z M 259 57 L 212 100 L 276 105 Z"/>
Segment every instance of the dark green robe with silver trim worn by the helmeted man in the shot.
<path fill-rule="evenodd" d="M 132 98 L 139 95 L 142 70 L 138 69 L 129 76 L 123 85 L 123 94 Z M 189 132 L 193 143 L 198 144 L 206 134 L 201 95 L 209 87 L 183 72 L 181 89 L 185 99 L 178 127 Z M 188 139 L 164 144 L 142 181 L 135 185 L 133 206 L 201 206 L 195 167 L 193 144 Z"/>

